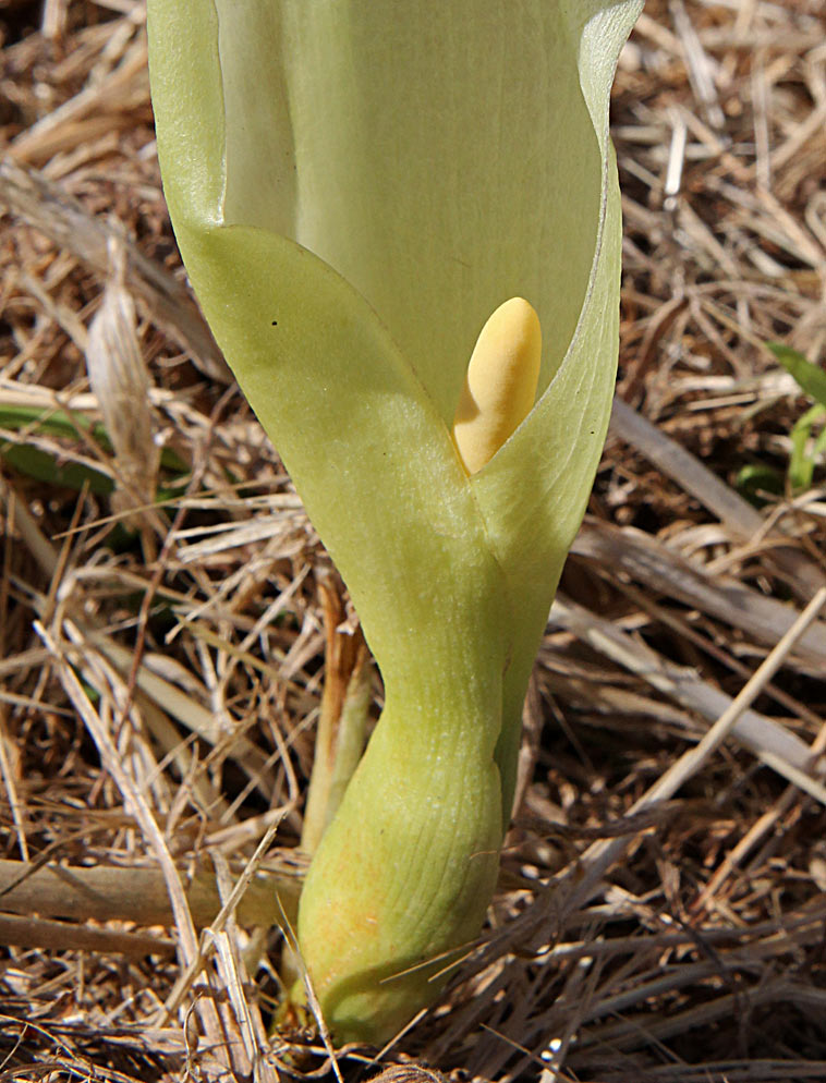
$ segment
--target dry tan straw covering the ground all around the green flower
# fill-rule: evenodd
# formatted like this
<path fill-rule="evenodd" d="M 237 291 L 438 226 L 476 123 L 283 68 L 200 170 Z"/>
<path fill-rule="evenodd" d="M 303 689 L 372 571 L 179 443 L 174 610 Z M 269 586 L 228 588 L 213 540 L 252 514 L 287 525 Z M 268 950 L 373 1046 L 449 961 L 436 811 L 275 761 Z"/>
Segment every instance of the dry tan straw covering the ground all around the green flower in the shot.
<path fill-rule="evenodd" d="M 336 580 L 182 284 L 143 21 L 0 2 L 0 1071 L 331 1078 L 266 1041 L 252 930 L 301 879 Z M 826 1078 L 824 474 L 734 487 L 782 477 L 807 404 L 765 342 L 826 353 L 825 23 L 653 0 L 623 53 L 622 401 L 500 891 L 445 1003 L 347 1079 Z"/>

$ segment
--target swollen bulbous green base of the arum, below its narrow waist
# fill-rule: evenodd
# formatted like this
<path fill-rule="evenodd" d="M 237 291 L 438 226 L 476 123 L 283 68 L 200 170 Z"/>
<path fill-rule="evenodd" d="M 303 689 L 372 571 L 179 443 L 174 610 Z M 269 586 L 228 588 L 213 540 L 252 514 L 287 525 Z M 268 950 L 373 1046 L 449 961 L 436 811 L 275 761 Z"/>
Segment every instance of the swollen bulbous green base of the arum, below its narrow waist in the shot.
<path fill-rule="evenodd" d="M 487 704 L 478 690 L 449 682 L 441 702 L 413 687 L 400 703 L 387 685 L 299 911 L 301 952 L 338 1042 L 392 1036 L 438 996 L 478 935 L 502 836 L 486 737 L 500 713 L 494 683 Z"/>

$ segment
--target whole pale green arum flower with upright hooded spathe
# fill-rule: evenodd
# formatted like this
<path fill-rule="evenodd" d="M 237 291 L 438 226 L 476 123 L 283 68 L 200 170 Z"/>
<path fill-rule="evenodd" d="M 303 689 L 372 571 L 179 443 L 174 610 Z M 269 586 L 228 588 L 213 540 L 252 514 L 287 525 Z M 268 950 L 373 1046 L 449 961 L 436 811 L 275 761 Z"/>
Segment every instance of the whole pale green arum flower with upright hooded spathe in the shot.
<path fill-rule="evenodd" d="M 611 403 L 608 96 L 640 3 L 148 7 L 184 263 L 384 679 L 297 921 L 333 1036 L 378 1042 L 438 994 L 496 883 Z"/>

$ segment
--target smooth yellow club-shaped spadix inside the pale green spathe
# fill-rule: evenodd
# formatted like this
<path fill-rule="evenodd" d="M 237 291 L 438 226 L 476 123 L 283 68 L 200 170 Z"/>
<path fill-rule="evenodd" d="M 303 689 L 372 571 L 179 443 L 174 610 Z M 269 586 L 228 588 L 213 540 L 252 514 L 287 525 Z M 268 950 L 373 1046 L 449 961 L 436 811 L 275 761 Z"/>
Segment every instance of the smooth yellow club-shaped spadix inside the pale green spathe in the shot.
<path fill-rule="evenodd" d="M 539 317 L 511 297 L 482 328 L 453 418 L 453 441 L 469 474 L 490 462 L 527 417 L 542 358 Z"/>

